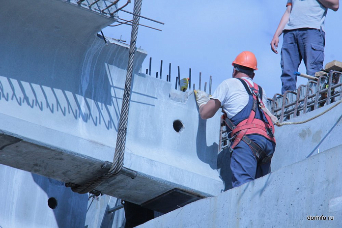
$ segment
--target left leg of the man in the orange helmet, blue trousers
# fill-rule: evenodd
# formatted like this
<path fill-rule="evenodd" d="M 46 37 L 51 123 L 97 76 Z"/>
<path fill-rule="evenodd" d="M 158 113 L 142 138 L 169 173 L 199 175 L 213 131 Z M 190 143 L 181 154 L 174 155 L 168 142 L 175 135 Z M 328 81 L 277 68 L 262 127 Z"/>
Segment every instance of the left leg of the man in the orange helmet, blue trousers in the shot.
<path fill-rule="evenodd" d="M 256 176 L 256 157 L 246 142 L 239 142 L 231 154 L 230 169 L 233 188 L 254 180 Z"/>

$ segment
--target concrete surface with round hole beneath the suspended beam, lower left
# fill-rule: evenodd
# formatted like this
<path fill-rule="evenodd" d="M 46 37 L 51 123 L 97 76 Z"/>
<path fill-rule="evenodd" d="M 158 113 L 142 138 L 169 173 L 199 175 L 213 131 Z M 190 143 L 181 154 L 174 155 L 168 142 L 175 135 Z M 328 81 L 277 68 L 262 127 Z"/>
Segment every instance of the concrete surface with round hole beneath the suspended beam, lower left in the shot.
<path fill-rule="evenodd" d="M 106 207 L 116 202 L 110 196 L 89 199 L 60 181 L 4 165 L 0 186 L 1 228 L 100 228 Z M 51 198 L 57 200 L 55 209 L 48 205 Z M 123 214 L 123 209 L 115 212 L 113 228 L 121 227 Z"/>

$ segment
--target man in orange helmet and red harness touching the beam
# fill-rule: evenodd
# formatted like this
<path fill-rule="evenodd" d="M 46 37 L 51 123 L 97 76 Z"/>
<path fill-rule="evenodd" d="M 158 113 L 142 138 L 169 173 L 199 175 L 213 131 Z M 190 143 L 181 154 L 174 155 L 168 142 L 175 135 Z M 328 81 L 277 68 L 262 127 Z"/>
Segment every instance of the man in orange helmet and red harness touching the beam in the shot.
<path fill-rule="evenodd" d="M 222 107 L 231 143 L 232 186 L 237 187 L 269 172 L 276 148 L 273 123 L 278 119 L 264 106 L 265 91 L 252 81 L 255 55 L 242 52 L 232 65 L 232 78 L 223 81 L 210 98 L 203 91 L 195 94 L 202 119 L 213 117 Z"/>

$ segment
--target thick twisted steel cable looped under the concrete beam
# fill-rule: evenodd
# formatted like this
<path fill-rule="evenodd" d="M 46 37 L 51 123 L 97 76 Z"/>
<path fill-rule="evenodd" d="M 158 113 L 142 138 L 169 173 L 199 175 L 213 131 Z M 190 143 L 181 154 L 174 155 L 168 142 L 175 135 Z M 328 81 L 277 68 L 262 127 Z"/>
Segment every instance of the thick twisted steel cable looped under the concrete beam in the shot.
<path fill-rule="evenodd" d="M 123 157 L 125 153 L 125 145 L 126 145 L 126 135 L 127 135 L 127 121 L 128 121 L 128 111 L 131 97 L 131 84 L 132 84 L 132 74 L 133 74 L 133 62 L 134 62 L 134 53 L 137 44 L 138 37 L 138 28 L 139 28 L 139 15 L 141 14 L 142 9 L 142 0 L 134 1 L 134 16 L 133 16 L 133 26 L 131 32 L 131 45 L 129 50 L 129 58 L 128 58 L 128 67 L 127 67 L 127 75 L 125 82 L 125 89 L 123 93 L 119 128 L 117 132 L 116 138 L 116 147 L 113 159 L 113 165 L 110 170 L 99 176 L 97 178 L 88 180 L 86 183 L 80 186 L 72 187 L 73 192 L 77 192 L 80 194 L 88 193 L 94 190 L 101 182 L 108 179 L 111 176 L 117 175 L 123 166 Z"/>

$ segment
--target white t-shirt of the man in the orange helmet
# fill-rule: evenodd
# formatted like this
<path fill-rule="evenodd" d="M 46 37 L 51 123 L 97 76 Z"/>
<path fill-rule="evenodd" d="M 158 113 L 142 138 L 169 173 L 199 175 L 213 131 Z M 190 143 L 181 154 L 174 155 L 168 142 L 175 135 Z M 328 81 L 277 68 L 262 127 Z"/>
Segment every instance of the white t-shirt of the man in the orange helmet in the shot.
<path fill-rule="evenodd" d="M 251 85 L 254 85 L 252 79 L 244 77 Z M 210 99 L 217 99 L 228 118 L 238 114 L 248 104 L 249 95 L 245 86 L 236 78 L 230 78 L 223 81 L 215 90 Z M 262 102 L 267 103 L 265 90 L 262 89 Z"/>

